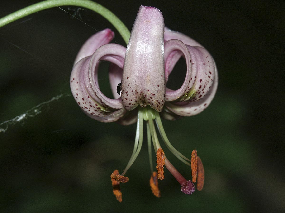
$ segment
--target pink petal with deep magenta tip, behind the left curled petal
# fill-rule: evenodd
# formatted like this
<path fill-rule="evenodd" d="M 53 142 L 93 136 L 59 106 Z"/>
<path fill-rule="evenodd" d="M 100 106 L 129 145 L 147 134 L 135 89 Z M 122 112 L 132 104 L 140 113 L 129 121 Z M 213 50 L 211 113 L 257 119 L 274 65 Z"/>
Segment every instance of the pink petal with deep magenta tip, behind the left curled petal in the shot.
<path fill-rule="evenodd" d="M 77 53 L 73 66 L 81 59 L 89 55 L 93 55 L 95 50 L 98 49 L 100 46 L 110 43 L 113 37 L 114 32 L 108 28 L 95 33 L 82 45 L 79 52 Z"/>

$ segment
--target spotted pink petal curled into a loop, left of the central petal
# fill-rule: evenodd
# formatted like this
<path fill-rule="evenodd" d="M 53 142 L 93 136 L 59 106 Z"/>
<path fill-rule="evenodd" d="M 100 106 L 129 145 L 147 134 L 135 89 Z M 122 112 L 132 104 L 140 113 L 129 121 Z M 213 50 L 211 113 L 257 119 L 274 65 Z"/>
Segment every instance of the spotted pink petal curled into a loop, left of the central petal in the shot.
<path fill-rule="evenodd" d="M 127 112 L 121 99 L 110 99 L 103 95 L 97 79 L 99 61 L 107 60 L 123 68 L 125 50 L 125 47 L 117 44 L 103 45 L 92 56 L 80 60 L 72 70 L 72 94 L 82 110 L 95 120 L 113 122 Z"/>

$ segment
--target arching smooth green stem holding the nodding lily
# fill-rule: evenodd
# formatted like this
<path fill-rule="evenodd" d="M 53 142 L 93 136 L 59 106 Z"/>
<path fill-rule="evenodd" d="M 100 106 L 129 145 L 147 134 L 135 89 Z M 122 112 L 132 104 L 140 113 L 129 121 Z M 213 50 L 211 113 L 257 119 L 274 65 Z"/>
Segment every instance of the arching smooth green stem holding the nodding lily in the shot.
<path fill-rule="evenodd" d="M 30 5 L 28 7 L 25 7 L 21 10 L 18 10 L 16 12 L 13 12 L 7 16 L 4 16 L 3 18 L 0 18 L 0 28 L 5 26 L 6 24 L 9 24 L 13 21 L 16 21 L 20 18 L 23 18 L 25 16 L 28 16 L 32 13 L 42 11 L 45 9 L 49 9 L 52 7 L 61 7 L 61 6 L 77 6 L 77 7 L 85 7 L 87 9 L 90 9 L 92 11 L 97 12 L 104 18 L 106 18 L 113 26 L 118 30 L 118 32 L 123 37 L 126 44 L 129 43 L 130 38 L 130 31 L 128 28 L 123 24 L 123 22 L 111 11 L 109 11 L 107 8 L 103 7 L 102 5 L 99 5 L 98 3 L 95 3 L 93 1 L 89 0 L 48 0 L 48 1 L 42 1 L 39 3 L 36 3 L 34 5 Z"/>

